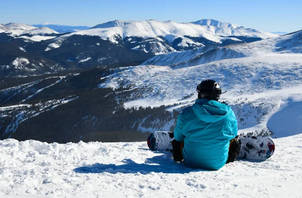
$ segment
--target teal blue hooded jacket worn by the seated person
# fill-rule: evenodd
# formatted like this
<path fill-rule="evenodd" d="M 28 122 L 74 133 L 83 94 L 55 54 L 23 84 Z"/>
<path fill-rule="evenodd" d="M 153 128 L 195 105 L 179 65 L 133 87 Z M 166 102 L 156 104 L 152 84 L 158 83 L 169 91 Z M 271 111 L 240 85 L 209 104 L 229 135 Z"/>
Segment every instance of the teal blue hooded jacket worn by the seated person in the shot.
<path fill-rule="evenodd" d="M 182 153 L 188 167 L 218 170 L 228 159 L 230 140 L 237 133 L 231 107 L 203 98 L 179 115 L 174 138 L 184 142 Z"/>

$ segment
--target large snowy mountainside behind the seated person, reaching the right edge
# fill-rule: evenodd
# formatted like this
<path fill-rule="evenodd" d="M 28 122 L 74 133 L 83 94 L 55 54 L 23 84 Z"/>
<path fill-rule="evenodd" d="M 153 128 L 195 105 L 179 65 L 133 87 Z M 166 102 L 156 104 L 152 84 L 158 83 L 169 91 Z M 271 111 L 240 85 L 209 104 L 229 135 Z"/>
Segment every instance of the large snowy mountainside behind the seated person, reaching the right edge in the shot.
<path fill-rule="evenodd" d="M 270 130 L 278 137 L 284 124 L 276 121 L 287 118 L 293 121 L 291 130 L 298 133 L 302 127 L 301 117 L 295 116 L 302 104 L 301 37 L 299 31 L 209 51 L 159 55 L 144 63 L 155 65 L 116 71 L 100 87 L 135 87 L 125 107 L 174 105 L 172 111 L 194 102 L 201 80 L 215 79 L 228 90 L 222 100 L 233 107 L 242 133 Z M 282 111 L 290 114 L 278 113 Z"/>

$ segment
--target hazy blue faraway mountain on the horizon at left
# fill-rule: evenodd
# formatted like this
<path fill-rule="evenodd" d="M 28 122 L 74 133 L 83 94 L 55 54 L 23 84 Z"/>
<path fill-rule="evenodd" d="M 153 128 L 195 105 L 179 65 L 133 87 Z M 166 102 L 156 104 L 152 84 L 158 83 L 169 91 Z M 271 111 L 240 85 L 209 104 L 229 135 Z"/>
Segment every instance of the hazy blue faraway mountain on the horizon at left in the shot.
<path fill-rule="evenodd" d="M 59 33 L 77 32 L 81 30 L 87 30 L 90 28 L 88 26 L 68 26 L 68 25 L 61 25 L 61 24 L 51 24 L 47 22 L 44 22 L 42 24 L 35 24 L 33 26 L 37 28 L 47 27 Z"/>

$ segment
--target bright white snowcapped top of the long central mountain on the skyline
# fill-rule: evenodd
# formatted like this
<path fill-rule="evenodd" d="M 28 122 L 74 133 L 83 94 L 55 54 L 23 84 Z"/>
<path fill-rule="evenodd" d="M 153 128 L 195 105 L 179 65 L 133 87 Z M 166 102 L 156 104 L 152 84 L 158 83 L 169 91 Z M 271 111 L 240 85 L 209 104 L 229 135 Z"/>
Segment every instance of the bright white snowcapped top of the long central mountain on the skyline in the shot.
<path fill-rule="evenodd" d="M 160 22 L 155 20 L 146 20 L 140 22 L 131 22 L 127 25 L 112 27 L 112 28 L 93 28 L 81 32 L 72 33 L 70 35 L 89 35 L 99 36 L 102 39 L 109 39 L 114 43 L 118 43 L 118 38 L 125 39 L 129 37 L 141 37 L 141 38 L 160 38 L 163 37 L 166 41 L 173 43 L 177 39 L 190 39 L 196 40 L 200 37 L 218 44 L 222 44 L 225 40 L 240 39 L 228 38 L 229 36 L 249 36 L 266 39 L 269 37 L 277 37 L 271 33 L 260 32 L 256 30 L 247 31 L 248 29 L 240 29 L 234 34 L 230 31 L 216 31 L 212 28 L 214 26 L 203 26 L 193 23 L 176 23 L 173 21 Z M 236 26 L 237 27 L 237 26 Z M 233 26 L 231 26 L 233 28 Z M 240 28 L 240 27 L 238 27 Z M 245 30 L 245 31 L 243 31 Z M 231 32 L 231 33 L 230 33 Z M 70 36 L 65 35 L 65 36 Z M 195 38 L 195 39 L 193 39 Z M 194 41 L 192 41 L 194 42 Z M 196 42 L 196 41 L 195 41 Z M 185 42 L 183 45 L 187 45 Z"/>

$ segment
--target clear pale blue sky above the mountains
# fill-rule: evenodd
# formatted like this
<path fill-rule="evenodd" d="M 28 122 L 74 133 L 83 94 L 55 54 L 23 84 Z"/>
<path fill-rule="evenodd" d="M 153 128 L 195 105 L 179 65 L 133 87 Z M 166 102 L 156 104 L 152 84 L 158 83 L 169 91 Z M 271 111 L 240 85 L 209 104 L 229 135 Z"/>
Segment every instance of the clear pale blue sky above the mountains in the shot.
<path fill-rule="evenodd" d="M 215 19 L 267 32 L 302 29 L 302 1 L 293 0 L 1 0 L 0 24 L 95 26 L 113 20 L 192 22 Z"/>

